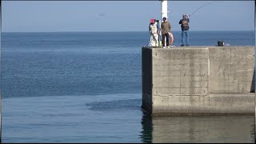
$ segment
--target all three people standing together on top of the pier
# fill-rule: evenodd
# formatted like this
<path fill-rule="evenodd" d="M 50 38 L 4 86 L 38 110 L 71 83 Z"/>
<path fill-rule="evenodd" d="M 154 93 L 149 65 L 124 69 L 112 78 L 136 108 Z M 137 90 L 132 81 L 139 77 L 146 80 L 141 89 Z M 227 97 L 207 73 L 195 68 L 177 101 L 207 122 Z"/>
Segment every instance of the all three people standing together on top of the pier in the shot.
<path fill-rule="evenodd" d="M 188 15 L 183 14 L 182 19 L 179 21 L 179 24 L 182 27 L 182 45 L 181 46 L 189 46 L 189 22 L 190 18 Z M 159 35 L 160 32 L 162 33 L 162 47 L 163 48 L 170 48 L 170 22 L 167 21 L 167 18 L 162 18 L 161 28 L 159 27 L 158 22 L 156 19 L 150 19 L 150 46 L 158 47 L 159 45 Z"/>

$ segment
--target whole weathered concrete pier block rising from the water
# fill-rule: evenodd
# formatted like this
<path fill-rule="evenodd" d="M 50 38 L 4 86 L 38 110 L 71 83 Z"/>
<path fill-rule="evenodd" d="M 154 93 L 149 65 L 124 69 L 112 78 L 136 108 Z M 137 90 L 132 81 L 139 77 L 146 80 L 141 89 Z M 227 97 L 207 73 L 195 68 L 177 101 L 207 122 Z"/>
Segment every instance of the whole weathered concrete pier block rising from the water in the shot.
<path fill-rule="evenodd" d="M 254 114 L 254 46 L 142 47 L 149 114 Z"/>

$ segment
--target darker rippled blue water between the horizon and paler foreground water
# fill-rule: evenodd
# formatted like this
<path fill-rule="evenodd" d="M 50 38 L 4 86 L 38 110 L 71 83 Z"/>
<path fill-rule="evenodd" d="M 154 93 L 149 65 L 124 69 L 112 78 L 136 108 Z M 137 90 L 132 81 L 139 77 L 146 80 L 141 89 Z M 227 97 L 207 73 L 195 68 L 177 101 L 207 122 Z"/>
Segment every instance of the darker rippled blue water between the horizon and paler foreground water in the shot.
<path fill-rule="evenodd" d="M 174 46 L 181 37 L 174 32 Z M 254 46 L 254 32 L 191 32 L 190 43 Z M 3 33 L 2 98 L 140 94 L 147 32 Z"/>

